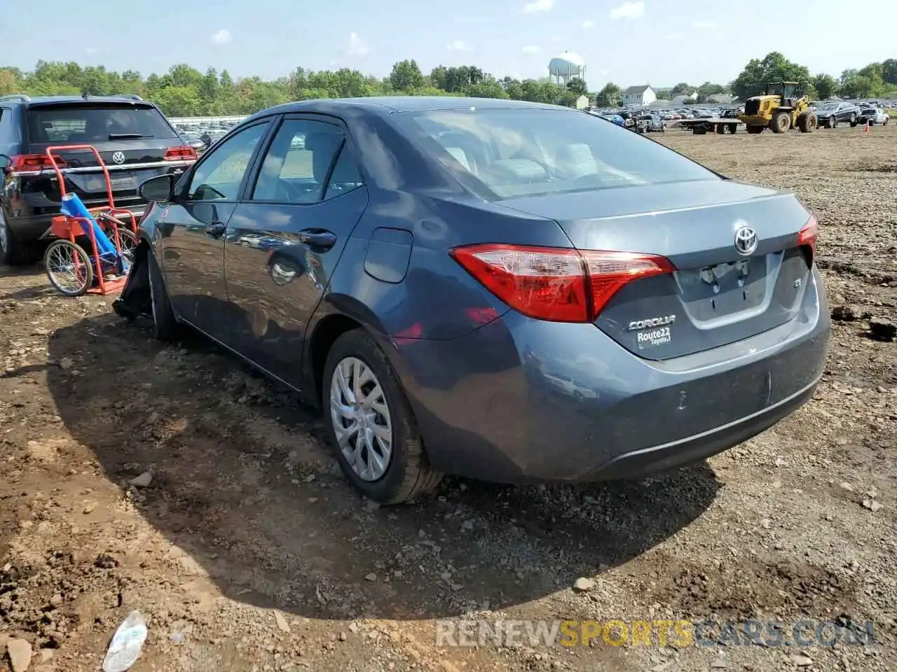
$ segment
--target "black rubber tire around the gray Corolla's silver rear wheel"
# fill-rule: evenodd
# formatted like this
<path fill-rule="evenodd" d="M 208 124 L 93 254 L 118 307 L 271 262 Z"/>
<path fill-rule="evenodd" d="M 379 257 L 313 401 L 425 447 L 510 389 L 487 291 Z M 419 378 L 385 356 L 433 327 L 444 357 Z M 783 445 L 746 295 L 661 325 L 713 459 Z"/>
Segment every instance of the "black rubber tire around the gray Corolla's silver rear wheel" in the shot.
<path fill-rule="evenodd" d="M 387 403 L 392 426 L 392 450 L 386 470 L 377 480 L 365 480 L 355 473 L 336 440 L 335 421 L 331 416 L 330 388 L 336 366 L 345 358 L 360 359 L 370 367 Z M 427 461 L 414 412 L 398 376 L 368 332 L 355 329 L 345 332 L 334 341 L 324 366 L 321 400 L 327 425 L 327 441 L 333 447 L 345 477 L 362 495 L 379 504 L 398 504 L 414 499 L 439 485 L 442 474 L 433 470 Z"/>

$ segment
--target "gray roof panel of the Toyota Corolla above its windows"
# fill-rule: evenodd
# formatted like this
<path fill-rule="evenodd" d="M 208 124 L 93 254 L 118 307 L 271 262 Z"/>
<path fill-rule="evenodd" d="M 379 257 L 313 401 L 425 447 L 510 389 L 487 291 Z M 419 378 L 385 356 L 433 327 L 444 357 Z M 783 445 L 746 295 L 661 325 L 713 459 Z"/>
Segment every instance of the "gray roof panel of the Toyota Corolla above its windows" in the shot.
<path fill-rule="evenodd" d="M 291 112 L 338 113 L 353 108 L 372 114 L 386 116 L 396 112 L 422 112 L 443 109 L 565 109 L 557 105 L 531 103 L 526 100 L 494 98 L 460 98 L 455 96 L 372 96 L 370 98 L 308 99 L 284 103 L 274 108 L 257 112 L 256 116 L 289 114 Z"/>

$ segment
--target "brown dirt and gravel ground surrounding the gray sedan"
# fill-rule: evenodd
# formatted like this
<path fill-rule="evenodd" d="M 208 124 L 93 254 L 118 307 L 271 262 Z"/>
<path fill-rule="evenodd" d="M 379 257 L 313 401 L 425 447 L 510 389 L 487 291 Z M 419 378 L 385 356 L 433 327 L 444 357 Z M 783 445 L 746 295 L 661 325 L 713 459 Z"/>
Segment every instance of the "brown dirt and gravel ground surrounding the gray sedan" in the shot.
<path fill-rule="evenodd" d="M 660 478 L 447 479 L 416 504 L 370 506 L 289 393 L 196 337 L 150 340 L 109 298 L 56 296 L 40 268 L 0 270 L 0 656 L 23 639 L 29 669 L 97 670 L 139 609 L 138 672 L 897 668 L 897 342 L 868 333 L 897 319 L 897 125 L 662 142 L 796 190 L 843 319 L 814 401 Z M 451 647 L 442 618 L 785 634 L 617 646 L 614 627 L 589 646 Z M 823 645 L 817 622 L 858 637 Z"/>

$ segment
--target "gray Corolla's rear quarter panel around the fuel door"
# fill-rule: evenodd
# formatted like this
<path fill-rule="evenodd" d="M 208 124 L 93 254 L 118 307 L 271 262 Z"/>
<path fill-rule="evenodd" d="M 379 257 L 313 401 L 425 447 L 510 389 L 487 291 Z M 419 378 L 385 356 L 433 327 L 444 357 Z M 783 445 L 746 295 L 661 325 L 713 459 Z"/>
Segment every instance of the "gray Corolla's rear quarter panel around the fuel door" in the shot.
<path fill-rule="evenodd" d="M 398 282 L 365 269 L 377 228 L 410 234 L 407 271 Z M 371 324 L 397 339 L 456 339 L 509 310 L 448 254 L 474 243 L 569 247 L 553 220 L 507 211 L 475 197 L 453 200 L 400 191 L 372 190 L 370 204 L 346 244 L 325 301 L 357 302 Z M 379 245 L 379 244 L 378 244 Z"/>

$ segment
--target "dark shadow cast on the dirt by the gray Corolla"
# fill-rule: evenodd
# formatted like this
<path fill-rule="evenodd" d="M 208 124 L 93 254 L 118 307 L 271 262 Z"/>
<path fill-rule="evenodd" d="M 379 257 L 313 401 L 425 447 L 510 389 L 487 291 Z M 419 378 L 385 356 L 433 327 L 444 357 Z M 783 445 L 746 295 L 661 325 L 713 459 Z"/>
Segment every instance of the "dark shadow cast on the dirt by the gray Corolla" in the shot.
<path fill-rule="evenodd" d="M 165 346 L 103 314 L 50 336 L 50 361 L 64 358 L 48 385 L 66 429 L 178 547 L 146 562 L 301 616 L 509 609 L 639 556 L 718 489 L 701 463 L 578 487 L 449 478 L 417 503 L 371 506 L 346 485 L 314 413 L 199 337 Z M 146 470 L 149 487 L 128 485 Z M 116 534 L 109 543 L 124 546 Z"/>

